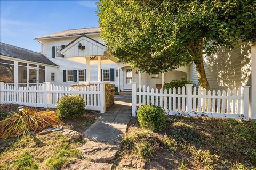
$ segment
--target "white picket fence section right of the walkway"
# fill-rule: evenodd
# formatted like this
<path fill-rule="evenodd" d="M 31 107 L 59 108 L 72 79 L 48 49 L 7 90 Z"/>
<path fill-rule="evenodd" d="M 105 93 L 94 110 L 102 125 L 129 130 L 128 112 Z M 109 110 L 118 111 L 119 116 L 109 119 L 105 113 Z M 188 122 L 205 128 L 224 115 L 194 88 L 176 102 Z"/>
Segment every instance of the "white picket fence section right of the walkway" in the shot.
<path fill-rule="evenodd" d="M 249 118 L 249 87 L 244 86 L 226 91 L 206 91 L 192 87 L 173 88 L 169 90 L 151 89 L 132 84 L 132 115 L 142 105 L 156 105 L 169 115 L 207 116 L 218 118 Z"/>

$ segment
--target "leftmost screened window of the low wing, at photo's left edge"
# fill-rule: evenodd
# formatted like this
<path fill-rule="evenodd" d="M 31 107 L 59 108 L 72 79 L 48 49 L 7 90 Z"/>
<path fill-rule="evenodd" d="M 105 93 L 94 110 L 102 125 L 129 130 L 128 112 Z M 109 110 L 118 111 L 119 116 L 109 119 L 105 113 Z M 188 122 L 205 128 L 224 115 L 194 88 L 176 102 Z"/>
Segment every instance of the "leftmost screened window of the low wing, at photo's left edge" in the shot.
<path fill-rule="evenodd" d="M 14 82 L 14 61 L 0 59 L 0 82 Z"/>

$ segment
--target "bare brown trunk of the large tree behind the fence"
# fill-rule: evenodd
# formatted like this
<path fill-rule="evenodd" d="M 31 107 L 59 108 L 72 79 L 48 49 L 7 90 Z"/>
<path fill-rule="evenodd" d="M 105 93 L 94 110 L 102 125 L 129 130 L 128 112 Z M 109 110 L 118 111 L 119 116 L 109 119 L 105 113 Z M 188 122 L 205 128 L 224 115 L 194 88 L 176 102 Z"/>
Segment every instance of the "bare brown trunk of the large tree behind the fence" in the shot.
<path fill-rule="evenodd" d="M 190 55 L 193 57 L 193 62 L 196 66 L 199 86 L 201 88 L 205 88 L 207 91 L 210 90 L 210 86 L 204 70 L 203 39 L 197 41 L 190 41 L 188 45 L 188 50 Z"/>

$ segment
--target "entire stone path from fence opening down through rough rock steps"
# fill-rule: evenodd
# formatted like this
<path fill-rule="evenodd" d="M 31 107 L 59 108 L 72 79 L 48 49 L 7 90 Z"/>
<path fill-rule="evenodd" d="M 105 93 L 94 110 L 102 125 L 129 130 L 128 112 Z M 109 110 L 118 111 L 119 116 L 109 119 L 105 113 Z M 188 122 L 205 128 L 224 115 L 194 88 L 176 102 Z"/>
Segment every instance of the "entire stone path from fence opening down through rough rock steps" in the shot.
<path fill-rule="evenodd" d="M 131 96 L 116 95 L 115 104 L 83 133 L 89 141 L 78 149 L 86 160 L 77 160 L 69 168 L 111 169 L 113 164 L 106 162 L 113 160 L 120 149 L 130 118 Z"/>

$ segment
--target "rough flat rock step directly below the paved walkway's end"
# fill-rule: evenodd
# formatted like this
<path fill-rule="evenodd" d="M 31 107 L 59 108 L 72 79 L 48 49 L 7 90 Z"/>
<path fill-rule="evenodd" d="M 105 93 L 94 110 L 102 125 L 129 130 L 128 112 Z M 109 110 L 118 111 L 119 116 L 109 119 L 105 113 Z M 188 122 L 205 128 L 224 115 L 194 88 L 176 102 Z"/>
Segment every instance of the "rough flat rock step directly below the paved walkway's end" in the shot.
<path fill-rule="evenodd" d="M 119 144 L 107 142 L 88 141 L 78 148 L 82 156 L 94 162 L 109 162 L 115 158 L 116 152 L 120 149 Z"/>

